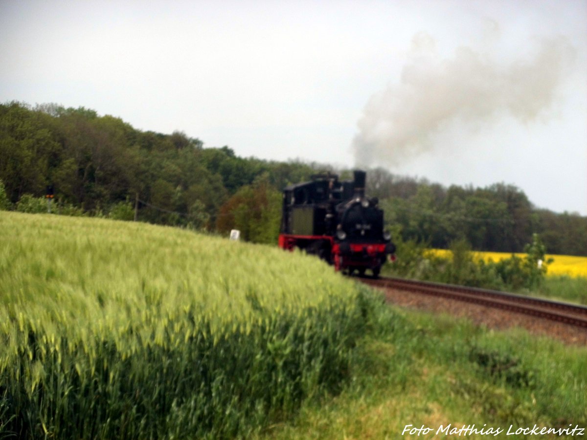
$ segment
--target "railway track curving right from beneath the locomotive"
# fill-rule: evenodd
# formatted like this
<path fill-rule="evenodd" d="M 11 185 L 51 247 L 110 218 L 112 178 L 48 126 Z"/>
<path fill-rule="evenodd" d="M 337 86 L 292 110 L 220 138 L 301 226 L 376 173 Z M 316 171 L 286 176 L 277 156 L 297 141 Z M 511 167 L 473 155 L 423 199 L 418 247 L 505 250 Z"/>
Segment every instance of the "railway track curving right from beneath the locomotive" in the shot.
<path fill-rule="evenodd" d="M 477 289 L 476 287 L 455 286 L 402 278 L 361 278 L 360 281 L 373 287 L 408 290 L 410 292 L 440 296 L 451 300 L 497 307 L 499 309 L 510 310 L 511 312 L 558 321 L 587 329 L 587 307 L 578 304 L 514 295 L 512 293 L 498 292 L 497 290 Z"/>

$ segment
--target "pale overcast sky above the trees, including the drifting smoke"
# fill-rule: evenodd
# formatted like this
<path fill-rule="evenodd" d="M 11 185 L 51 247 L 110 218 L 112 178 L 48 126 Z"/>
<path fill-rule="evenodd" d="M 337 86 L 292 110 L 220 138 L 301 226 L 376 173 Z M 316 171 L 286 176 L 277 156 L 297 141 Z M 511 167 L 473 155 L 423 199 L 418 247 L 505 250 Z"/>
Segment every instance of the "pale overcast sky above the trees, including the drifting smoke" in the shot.
<path fill-rule="evenodd" d="M 587 0 L 0 0 L 0 102 L 587 215 Z"/>

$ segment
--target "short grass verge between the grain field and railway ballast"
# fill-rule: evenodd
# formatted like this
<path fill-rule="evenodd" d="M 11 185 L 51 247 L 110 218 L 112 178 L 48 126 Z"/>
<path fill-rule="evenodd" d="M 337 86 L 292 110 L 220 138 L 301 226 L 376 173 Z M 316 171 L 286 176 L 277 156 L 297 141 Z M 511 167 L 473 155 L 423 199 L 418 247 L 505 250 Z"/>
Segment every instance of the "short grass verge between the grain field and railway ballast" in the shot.
<path fill-rule="evenodd" d="M 516 439 L 535 438 L 515 434 L 534 425 L 587 429 L 587 348 L 450 316 L 381 310 L 357 346 L 349 387 L 307 402 L 294 424 L 259 438 L 460 438 L 438 429 L 475 425 L 502 432 L 467 438 Z M 409 435 L 422 426 L 431 430 Z M 545 436 L 553 437 L 577 438 Z"/>

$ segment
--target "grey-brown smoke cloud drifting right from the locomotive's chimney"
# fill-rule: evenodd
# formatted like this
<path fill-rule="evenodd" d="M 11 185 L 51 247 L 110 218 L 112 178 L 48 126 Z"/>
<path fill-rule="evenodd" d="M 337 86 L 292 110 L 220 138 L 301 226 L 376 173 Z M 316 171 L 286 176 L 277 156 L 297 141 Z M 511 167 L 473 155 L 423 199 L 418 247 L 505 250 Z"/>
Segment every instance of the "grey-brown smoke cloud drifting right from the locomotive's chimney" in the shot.
<path fill-rule="evenodd" d="M 427 33 L 414 36 L 400 82 L 370 97 L 353 139 L 357 165 L 397 165 L 437 145 L 447 127 L 477 130 L 511 115 L 536 120 L 556 100 L 575 50 L 563 37 L 504 62 L 470 47 L 441 59 Z M 504 59 L 504 57 L 499 57 Z"/>

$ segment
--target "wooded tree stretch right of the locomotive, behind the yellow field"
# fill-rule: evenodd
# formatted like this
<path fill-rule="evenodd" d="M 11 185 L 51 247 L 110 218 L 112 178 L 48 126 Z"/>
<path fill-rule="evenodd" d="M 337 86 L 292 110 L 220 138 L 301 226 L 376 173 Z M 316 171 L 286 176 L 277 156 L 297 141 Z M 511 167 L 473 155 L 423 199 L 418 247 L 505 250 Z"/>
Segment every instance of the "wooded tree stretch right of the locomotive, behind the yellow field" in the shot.
<path fill-rule="evenodd" d="M 401 226 L 404 241 L 447 249 L 464 238 L 478 251 L 522 252 L 538 233 L 551 253 L 587 255 L 587 217 L 534 209 L 512 185 L 443 188 L 377 168 L 367 172 L 367 193 L 379 198 L 388 225 Z"/>

